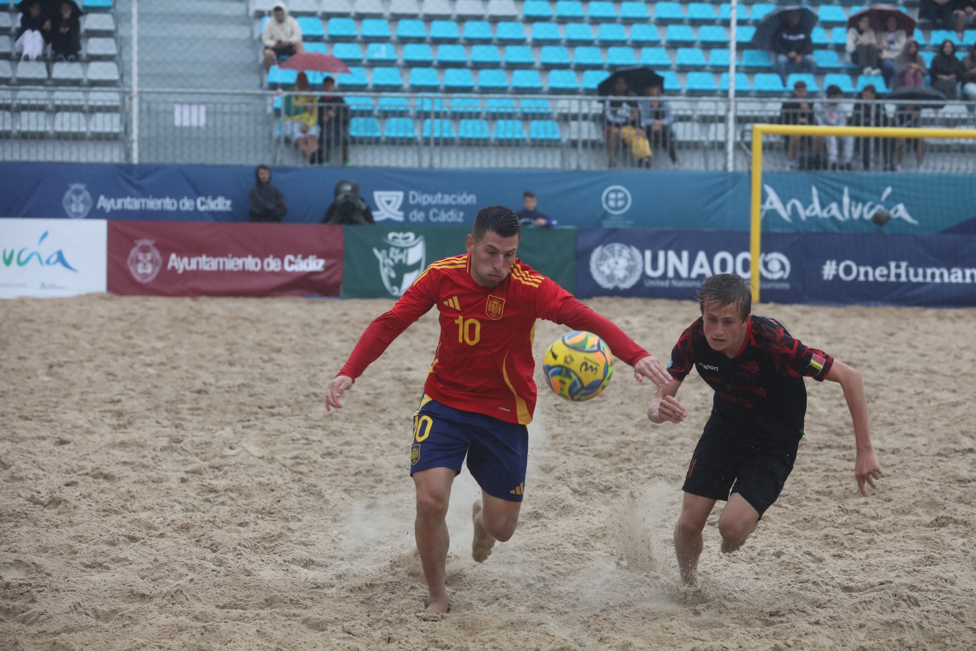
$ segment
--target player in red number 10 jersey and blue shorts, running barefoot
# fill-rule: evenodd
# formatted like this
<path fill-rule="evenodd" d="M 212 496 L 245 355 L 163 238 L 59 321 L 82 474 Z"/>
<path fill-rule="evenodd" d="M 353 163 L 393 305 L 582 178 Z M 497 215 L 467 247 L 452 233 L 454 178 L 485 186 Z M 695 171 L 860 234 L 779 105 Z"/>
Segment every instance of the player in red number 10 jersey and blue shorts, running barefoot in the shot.
<path fill-rule="evenodd" d="M 537 318 L 588 330 L 633 366 L 638 381 L 663 386 L 664 366 L 606 318 L 515 258 L 518 218 L 504 206 L 478 211 L 468 253 L 427 267 L 386 314 L 373 321 L 329 384 L 326 408 L 407 327 L 436 305 L 440 341 L 414 415 L 410 473 L 417 492 L 414 534 L 427 579 L 427 612 L 448 610 L 444 571 L 448 498 L 467 455 L 481 487 L 472 508 L 471 555 L 481 562 L 518 524 L 525 494 L 528 430 L 536 404 L 532 340 Z"/>

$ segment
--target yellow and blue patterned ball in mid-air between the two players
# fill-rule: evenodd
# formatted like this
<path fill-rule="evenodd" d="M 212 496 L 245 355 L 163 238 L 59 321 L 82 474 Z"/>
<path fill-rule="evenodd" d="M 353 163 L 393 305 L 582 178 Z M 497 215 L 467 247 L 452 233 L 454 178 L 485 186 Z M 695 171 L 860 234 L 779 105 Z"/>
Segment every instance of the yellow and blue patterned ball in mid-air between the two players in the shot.
<path fill-rule="evenodd" d="M 560 398 L 579 402 L 600 394 L 613 377 L 613 355 L 596 335 L 566 333 L 546 350 L 543 371 Z"/>

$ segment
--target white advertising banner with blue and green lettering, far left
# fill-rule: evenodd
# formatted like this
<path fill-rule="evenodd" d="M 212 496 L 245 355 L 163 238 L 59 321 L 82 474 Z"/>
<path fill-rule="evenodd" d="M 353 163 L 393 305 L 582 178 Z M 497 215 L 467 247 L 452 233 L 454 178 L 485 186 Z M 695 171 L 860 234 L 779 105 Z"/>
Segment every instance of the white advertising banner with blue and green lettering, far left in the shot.
<path fill-rule="evenodd" d="M 105 291 L 102 220 L 0 220 L 0 298 Z"/>

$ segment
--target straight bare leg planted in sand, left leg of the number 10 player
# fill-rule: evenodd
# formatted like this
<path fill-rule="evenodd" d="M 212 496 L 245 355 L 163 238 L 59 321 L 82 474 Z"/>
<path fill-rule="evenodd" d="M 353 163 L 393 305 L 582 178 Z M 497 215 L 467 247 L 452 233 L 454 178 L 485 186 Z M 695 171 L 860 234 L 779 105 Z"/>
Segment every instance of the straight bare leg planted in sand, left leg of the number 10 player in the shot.
<path fill-rule="evenodd" d="M 414 486 L 417 488 L 414 536 L 427 580 L 428 613 L 446 613 L 449 607 L 444 574 L 451 537 L 444 518 L 447 516 L 455 474 L 453 468 L 429 468 L 414 473 Z"/>

